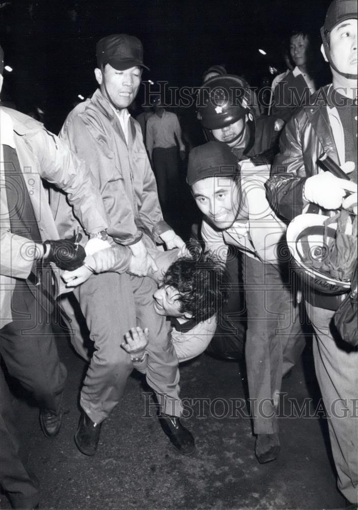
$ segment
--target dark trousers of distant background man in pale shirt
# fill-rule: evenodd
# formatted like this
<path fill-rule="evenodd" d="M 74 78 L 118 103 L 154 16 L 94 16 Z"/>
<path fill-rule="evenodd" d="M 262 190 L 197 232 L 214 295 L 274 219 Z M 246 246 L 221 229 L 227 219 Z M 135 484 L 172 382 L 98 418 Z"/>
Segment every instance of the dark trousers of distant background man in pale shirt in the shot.
<path fill-rule="evenodd" d="M 154 173 L 157 179 L 161 206 L 167 209 L 169 200 L 175 201 L 179 185 L 179 158 L 177 147 L 155 147 L 152 152 Z"/>

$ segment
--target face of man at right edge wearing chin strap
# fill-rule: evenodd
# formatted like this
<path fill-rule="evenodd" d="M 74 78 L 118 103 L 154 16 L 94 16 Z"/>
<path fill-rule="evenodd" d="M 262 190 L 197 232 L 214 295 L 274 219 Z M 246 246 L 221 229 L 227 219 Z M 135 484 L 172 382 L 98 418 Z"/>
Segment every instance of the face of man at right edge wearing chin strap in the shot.
<path fill-rule="evenodd" d="M 323 46 L 321 51 L 324 55 Z M 345 19 L 329 33 L 329 54 L 333 63 L 341 72 L 357 72 L 357 20 Z M 334 73 L 336 71 L 332 70 Z"/>

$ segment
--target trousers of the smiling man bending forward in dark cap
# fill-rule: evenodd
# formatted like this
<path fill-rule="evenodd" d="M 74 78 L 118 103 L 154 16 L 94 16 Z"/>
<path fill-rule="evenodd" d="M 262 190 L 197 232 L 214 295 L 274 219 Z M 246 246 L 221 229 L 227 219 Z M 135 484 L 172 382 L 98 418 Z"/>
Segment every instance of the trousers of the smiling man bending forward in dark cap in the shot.
<path fill-rule="evenodd" d="M 305 345 L 290 278 L 288 267 L 243 256 L 245 359 L 255 434 L 278 432 L 281 380 L 299 360 Z"/>

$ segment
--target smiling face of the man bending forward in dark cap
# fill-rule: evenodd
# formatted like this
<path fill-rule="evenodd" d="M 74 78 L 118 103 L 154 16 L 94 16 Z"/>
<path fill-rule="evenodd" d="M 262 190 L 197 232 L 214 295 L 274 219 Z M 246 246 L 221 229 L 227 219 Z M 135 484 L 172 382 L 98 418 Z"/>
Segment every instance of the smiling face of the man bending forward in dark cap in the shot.
<path fill-rule="evenodd" d="M 240 207 L 240 190 L 231 177 L 207 177 L 191 186 L 200 211 L 220 230 L 232 226 Z"/>

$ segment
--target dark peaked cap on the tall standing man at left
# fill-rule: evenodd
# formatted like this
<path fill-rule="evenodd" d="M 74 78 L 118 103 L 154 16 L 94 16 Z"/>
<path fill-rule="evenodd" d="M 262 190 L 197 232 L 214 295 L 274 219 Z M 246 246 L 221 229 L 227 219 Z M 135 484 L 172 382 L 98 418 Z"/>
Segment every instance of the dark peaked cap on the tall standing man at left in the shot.
<path fill-rule="evenodd" d="M 143 46 L 137 37 L 127 34 L 114 34 L 103 37 L 96 45 L 97 65 L 110 64 L 118 71 L 130 67 L 145 67 L 143 64 Z M 148 69 L 149 70 L 149 69 Z"/>

